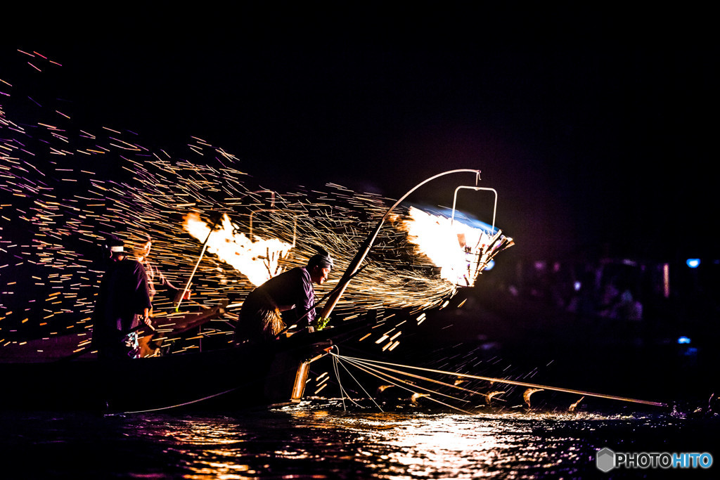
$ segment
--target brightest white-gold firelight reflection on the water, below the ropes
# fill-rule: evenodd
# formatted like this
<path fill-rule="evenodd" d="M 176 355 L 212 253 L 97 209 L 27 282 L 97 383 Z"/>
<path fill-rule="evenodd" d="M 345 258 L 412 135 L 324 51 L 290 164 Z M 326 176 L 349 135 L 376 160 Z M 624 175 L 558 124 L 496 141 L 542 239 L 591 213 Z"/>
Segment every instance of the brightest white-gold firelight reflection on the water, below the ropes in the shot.
<path fill-rule="evenodd" d="M 534 476 L 578 463 L 588 450 L 577 438 L 548 440 L 542 424 L 570 417 L 354 413 L 331 417 L 323 426 L 356 433 L 354 461 L 379 478 Z"/>

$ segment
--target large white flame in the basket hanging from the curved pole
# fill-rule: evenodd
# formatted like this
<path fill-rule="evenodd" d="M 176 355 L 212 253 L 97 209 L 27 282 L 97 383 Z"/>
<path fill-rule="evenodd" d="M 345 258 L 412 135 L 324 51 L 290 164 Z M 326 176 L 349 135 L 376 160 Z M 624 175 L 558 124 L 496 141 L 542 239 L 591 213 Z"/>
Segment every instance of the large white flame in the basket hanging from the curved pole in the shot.
<path fill-rule="evenodd" d="M 511 238 L 500 235 L 500 230 L 493 235 L 415 207 L 410 207 L 408 214 L 409 218 L 402 221 L 408 240 L 440 267 L 442 279 L 458 286 L 474 285 L 492 256 L 513 244 Z"/>

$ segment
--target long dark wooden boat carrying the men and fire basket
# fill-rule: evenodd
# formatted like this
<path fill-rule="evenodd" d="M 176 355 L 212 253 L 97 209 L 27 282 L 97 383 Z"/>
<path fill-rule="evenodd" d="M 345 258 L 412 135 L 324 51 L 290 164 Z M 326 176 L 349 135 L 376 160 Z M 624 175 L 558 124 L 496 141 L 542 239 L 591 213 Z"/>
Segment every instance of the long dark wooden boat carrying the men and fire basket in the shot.
<path fill-rule="evenodd" d="M 0 363 L 0 408 L 138 412 L 300 402 L 310 363 L 347 333 L 347 327 L 329 328 L 266 345 L 113 362 Z"/>

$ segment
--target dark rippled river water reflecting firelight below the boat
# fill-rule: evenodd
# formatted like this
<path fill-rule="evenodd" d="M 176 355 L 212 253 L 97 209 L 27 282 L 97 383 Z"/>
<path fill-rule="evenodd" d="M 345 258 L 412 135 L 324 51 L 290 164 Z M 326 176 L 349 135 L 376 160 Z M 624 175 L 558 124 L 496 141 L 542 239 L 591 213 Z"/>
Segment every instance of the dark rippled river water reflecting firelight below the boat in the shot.
<path fill-rule="evenodd" d="M 716 452 L 718 419 L 668 412 L 344 410 L 333 400 L 237 415 L 0 414 L 10 479 L 687 478 L 612 471 L 595 451 Z"/>

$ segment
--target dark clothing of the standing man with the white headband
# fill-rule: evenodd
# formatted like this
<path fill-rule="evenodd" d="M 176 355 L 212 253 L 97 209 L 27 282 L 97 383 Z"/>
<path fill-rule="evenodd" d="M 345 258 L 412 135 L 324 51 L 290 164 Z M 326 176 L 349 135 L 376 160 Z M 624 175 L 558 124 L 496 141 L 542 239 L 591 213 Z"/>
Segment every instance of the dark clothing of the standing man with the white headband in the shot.
<path fill-rule="evenodd" d="M 93 314 L 92 343 L 101 356 L 127 353 L 125 334 L 140 325 L 138 315 L 145 308 L 150 308 L 145 268 L 127 257 L 112 262 L 102 278 Z"/>

